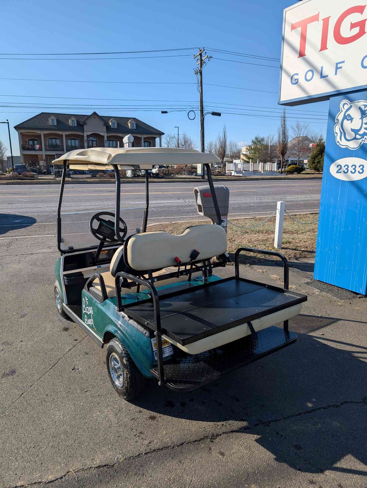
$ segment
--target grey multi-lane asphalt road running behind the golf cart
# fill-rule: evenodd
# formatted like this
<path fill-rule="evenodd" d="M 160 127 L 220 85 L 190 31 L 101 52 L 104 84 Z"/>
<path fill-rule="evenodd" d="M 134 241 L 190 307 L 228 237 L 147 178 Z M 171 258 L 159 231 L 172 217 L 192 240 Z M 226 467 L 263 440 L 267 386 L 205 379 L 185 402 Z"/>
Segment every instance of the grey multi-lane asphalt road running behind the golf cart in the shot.
<path fill-rule="evenodd" d="M 288 210 L 318 210 L 321 180 L 229 182 L 229 218 L 264 216 L 286 202 Z M 154 183 L 150 186 L 148 224 L 200 220 L 193 199 L 197 183 Z M 0 235 L 50 236 L 56 233 L 58 184 L 9 185 L 0 187 Z M 62 206 L 62 234 L 65 245 L 94 244 L 89 221 L 100 210 L 115 206 L 115 185 L 65 185 Z M 144 184 L 121 185 L 121 217 L 130 232 L 142 224 Z M 81 235 L 82 234 L 82 235 Z M 92 239 L 92 240 L 91 240 Z M 88 242 L 86 242 L 88 241 Z"/>

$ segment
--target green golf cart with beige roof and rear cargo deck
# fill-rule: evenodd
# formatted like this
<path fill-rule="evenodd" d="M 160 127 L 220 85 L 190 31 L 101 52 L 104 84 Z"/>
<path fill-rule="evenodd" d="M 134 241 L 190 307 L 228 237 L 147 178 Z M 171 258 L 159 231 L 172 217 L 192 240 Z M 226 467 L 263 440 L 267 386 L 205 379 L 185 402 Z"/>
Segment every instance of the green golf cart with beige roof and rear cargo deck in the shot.
<path fill-rule="evenodd" d="M 68 152 L 54 162 L 62 165 L 60 257 L 55 264 L 58 313 L 105 347 L 111 383 L 126 400 L 141 393 L 148 379 L 175 391 L 194 389 L 297 339 L 288 321 L 300 313 L 307 297 L 289 289 L 288 262 L 282 254 L 242 247 L 234 256 L 234 276 L 214 274 L 230 262 L 221 225 L 227 219 L 222 219 L 219 186 L 211 175 L 211 164 L 218 161 L 212 154 L 187 149 L 98 147 Z M 209 186 L 202 195 L 213 209 L 208 224 L 187 227 L 180 235 L 147 231 L 149 171 L 159 164 L 204 164 Z M 87 211 L 61 211 L 68 168 L 115 171 L 115 211 L 102 205 L 91 215 L 84 232 L 92 239 L 88 245 L 82 239 L 72 242 L 76 227 L 85 222 L 80 215 Z M 129 229 L 120 208 L 120 170 L 131 169 L 145 172 L 144 214 L 136 229 Z M 70 216 L 74 226 L 69 222 L 68 228 Z M 283 288 L 240 277 L 240 253 L 278 257 L 284 266 Z M 275 326 L 279 323 L 283 327 Z"/>

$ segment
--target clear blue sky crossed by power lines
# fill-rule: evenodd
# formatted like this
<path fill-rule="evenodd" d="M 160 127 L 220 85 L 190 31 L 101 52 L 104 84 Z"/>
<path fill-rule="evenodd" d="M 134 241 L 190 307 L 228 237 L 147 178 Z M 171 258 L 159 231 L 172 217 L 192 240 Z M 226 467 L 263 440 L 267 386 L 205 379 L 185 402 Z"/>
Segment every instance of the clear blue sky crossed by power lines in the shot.
<path fill-rule="evenodd" d="M 259 8 L 260 3 L 261 8 Z M 232 61 L 271 66 L 276 66 L 278 63 L 217 53 L 212 49 L 280 58 L 283 9 L 292 3 L 292 0 L 263 0 L 262 2 L 189 0 L 177 4 L 172 1 L 146 0 L 139 2 L 76 0 L 62 3 L 36 0 L 32 4 L 23 0 L 8 1 L 2 2 L 1 5 L 3 22 L 0 51 L 17 54 L 83 53 L 205 46 L 213 59 L 203 71 L 204 83 L 263 91 L 204 85 L 204 102 L 209 110 L 235 111 L 258 116 L 223 113 L 219 118 L 208 115 L 205 119 L 206 142 L 215 139 L 223 124 L 226 124 L 229 138 L 245 144 L 256 134 L 276 133 L 279 121 L 270 119 L 269 116 L 274 109 L 281 108 L 277 105 L 279 70 L 274 67 Z M 194 121 L 190 121 L 185 111 L 171 112 L 167 115 L 160 113 L 166 105 L 172 107 L 184 105 L 193 108 L 198 106 L 198 92 L 193 74 L 194 52 L 195 49 L 149 55 L 180 55 L 179 57 L 79 61 L 11 60 L 9 59 L 12 57 L 11 54 L 1 54 L 0 58 L 6 60 L 1 60 L 0 78 L 20 80 L 0 80 L 0 105 L 2 105 L 0 120 L 9 119 L 13 127 L 41 111 L 88 114 L 96 108 L 101 115 L 135 116 L 165 133 L 175 132 L 177 129 L 174 126 L 178 125 L 180 132 L 189 133 L 199 146 L 198 116 Z M 106 55 L 104 58 L 129 56 L 148 55 Z M 68 56 L 50 57 L 68 58 Z M 221 61 L 218 58 L 232 61 Z M 25 79 L 129 81 L 131 83 L 46 82 Z M 188 84 L 142 83 L 162 81 Z M 15 95 L 15 97 L 6 95 Z M 21 95 L 27 97 L 20 97 Z M 72 97 L 72 99 L 41 97 Z M 82 98 L 93 100 L 82 100 Z M 9 103 L 22 105 L 22 107 L 3 106 Z M 30 108 L 28 104 L 32 103 L 49 103 L 54 107 L 70 104 L 78 108 Z M 148 104 L 154 107 L 149 111 L 137 110 L 138 105 L 146 108 Z M 88 105 L 88 107 L 79 108 L 81 105 Z M 115 107 L 123 105 L 123 108 L 108 109 L 106 105 Z M 127 108 L 127 105 L 131 107 Z M 298 117 L 300 121 L 311 119 L 307 122 L 313 129 L 325 132 L 326 124 L 316 123 L 315 119 L 320 116 L 319 114 L 303 115 L 302 112 L 305 111 L 307 114 L 310 110 L 327 112 L 328 102 L 287 110 L 289 115 L 295 117 L 294 120 Z M 14 129 L 11 129 L 11 134 L 13 152 L 16 155 L 19 154 L 18 136 Z M 0 125 L 0 140 L 9 146 L 5 124 Z"/>

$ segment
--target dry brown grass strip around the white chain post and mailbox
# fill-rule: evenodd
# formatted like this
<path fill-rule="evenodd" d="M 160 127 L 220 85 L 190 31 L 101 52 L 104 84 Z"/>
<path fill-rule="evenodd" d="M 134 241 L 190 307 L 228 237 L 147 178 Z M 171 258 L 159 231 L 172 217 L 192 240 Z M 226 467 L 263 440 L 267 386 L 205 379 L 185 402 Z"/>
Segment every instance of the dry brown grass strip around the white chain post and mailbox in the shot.
<path fill-rule="evenodd" d="M 302 222 L 313 222 L 318 218 L 317 214 L 295 215 L 295 219 Z M 231 219 L 233 224 L 241 225 L 241 228 L 228 224 L 228 252 L 233 254 L 239 247 L 255 247 L 274 251 L 274 230 L 275 217 L 272 217 L 265 224 L 252 229 L 252 225 L 260 224 L 264 218 L 253 219 Z M 180 234 L 189 225 L 207 224 L 207 221 L 191 221 L 180 223 L 162 223 L 149 225 L 148 231 L 166 230 L 172 234 Z M 298 224 L 293 222 L 288 216 L 284 218 L 283 247 L 281 252 L 288 258 L 313 257 L 316 247 L 318 223 Z"/>

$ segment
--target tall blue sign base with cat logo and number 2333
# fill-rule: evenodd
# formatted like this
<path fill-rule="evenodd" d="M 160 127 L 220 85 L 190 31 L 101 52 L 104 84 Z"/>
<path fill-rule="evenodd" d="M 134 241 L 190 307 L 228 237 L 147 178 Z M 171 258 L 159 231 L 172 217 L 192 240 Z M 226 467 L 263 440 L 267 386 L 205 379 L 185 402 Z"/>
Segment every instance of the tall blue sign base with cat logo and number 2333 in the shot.
<path fill-rule="evenodd" d="M 330 99 L 314 278 L 367 294 L 367 91 Z"/>

